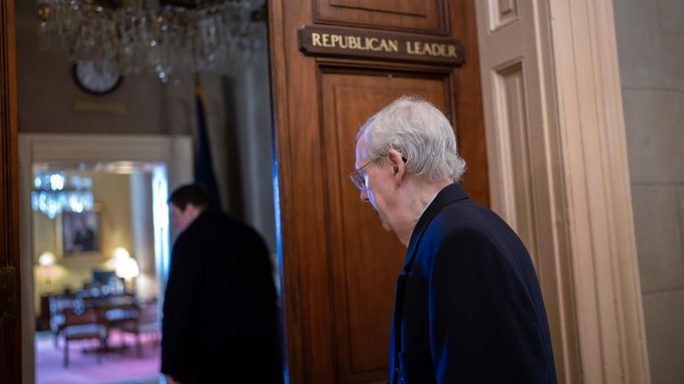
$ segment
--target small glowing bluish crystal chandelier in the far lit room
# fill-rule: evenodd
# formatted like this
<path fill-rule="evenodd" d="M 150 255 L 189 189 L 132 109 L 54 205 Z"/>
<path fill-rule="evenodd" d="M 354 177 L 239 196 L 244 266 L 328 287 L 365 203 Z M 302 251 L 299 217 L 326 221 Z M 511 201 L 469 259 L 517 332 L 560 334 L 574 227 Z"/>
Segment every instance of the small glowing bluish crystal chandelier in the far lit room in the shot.
<path fill-rule="evenodd" d="M 70 176 L 64 172 L 38 172 L 33 180 L 31 207 L 54 218 L 63 210 L 83 212 L 93 208 L 93 180 L 90 177 Z"/>

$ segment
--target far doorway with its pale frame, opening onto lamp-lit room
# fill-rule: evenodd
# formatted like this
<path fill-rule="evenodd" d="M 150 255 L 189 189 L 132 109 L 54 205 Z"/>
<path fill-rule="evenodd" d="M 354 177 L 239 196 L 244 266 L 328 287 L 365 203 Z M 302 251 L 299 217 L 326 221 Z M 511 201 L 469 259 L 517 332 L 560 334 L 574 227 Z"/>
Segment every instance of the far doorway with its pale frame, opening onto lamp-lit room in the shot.
<path fill-rule="evenodd" d="M 191 138 L 20 134 L 19 141 L 21 251 L 29 266 L 22 281 L 31 283 L 22 310 L 37 319 L 23 335 L 34 347 L 33 380 L 158 382 L 167 196 L 170 185 L 191 181 Z M 66 192 L 61 202 L 71 206 L 42 209 L 31 198 L 47 189 L 55 201 Z M 73 205 L 88 194 L 92 204 Z"/>

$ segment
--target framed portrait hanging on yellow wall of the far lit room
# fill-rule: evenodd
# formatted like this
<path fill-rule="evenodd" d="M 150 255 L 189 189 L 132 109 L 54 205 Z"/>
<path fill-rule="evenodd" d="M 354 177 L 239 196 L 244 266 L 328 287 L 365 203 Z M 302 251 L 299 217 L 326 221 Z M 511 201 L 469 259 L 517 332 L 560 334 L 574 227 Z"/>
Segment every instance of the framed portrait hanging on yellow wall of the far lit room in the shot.
<path fill-rule="evenodd" d="M 61 213 L 61 243 L 65 257 L 96 253 L 102 249 L 100 209 Z"/>

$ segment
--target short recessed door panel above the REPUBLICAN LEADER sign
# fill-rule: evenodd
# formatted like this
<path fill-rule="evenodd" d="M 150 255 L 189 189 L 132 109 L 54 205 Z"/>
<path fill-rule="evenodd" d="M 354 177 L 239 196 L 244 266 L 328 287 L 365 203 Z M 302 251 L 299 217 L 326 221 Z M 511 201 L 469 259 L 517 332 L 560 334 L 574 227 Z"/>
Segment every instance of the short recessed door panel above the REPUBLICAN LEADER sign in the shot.
<path fill-rule="evenodd" d="M 316 21 L 445 35 L 444 0 L 315 0 Z"/>

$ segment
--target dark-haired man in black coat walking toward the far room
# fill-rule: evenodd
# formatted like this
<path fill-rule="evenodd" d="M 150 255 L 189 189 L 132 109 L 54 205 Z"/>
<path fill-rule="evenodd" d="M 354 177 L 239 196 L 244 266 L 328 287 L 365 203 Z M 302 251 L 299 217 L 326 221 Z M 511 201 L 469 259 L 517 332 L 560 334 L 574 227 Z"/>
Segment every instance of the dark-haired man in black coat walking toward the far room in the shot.
<path fill-rule="evenodd" d="M 181 233 L 164 299 L 161 372 L 172 383 L 281 382 L 265 241 L 210 209 L 210 201 L 208 192 L 192 184 L 169 199 Z"/>

